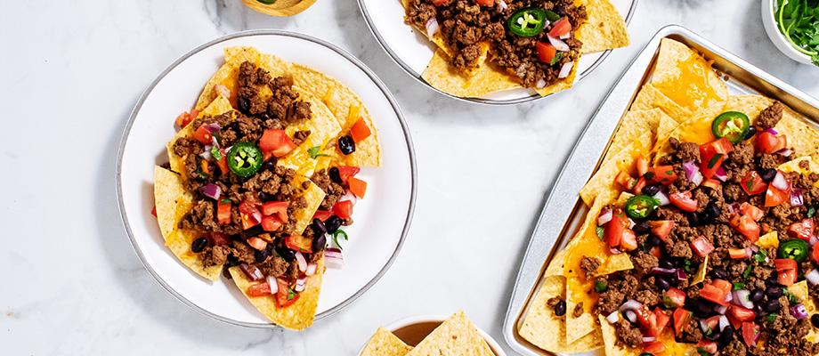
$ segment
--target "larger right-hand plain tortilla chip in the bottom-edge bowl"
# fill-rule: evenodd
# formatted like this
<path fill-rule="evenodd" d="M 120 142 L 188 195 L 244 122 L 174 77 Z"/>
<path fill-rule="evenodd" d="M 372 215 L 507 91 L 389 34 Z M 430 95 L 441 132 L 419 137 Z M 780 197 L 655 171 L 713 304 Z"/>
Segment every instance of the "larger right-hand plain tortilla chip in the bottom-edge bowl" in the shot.
<path fill-rule="evenodd" d="M 407 356 L 494 356 L 489 344 L 466 319 L 463 311 L 458 311 L 435 328 Z"/>

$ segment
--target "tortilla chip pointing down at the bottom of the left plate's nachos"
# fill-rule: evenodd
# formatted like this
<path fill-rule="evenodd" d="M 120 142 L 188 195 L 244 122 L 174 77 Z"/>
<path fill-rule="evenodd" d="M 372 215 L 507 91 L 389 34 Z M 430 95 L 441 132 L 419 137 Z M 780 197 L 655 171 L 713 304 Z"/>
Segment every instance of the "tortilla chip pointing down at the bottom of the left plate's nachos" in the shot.
<path fill-rule="evenodd" d="M 324 258 L 319 260 L 316 274 L 313 274 L 307 279 L 307 284 L 300 293 L 296 303 L 285 308 L 279 308 L 276 305 L 275 295 L 247 295 L 248 287 L 261 282 L 254 282 L 247 279 L 247 276 L 239 269 L 239 266 L 231 267 L 228 271 L 231 272 L 231 277 L 233 281 L 236 282 L 236 287 L 239 287 L 239 290 L 247 297 L 247 300 L 276 325 L 291 330 L 304 330 L 312 325 L 312 320 L 316 316 L 316 308 L 318 308 L 319 305 L 321 279 L 324 276 Z"/>

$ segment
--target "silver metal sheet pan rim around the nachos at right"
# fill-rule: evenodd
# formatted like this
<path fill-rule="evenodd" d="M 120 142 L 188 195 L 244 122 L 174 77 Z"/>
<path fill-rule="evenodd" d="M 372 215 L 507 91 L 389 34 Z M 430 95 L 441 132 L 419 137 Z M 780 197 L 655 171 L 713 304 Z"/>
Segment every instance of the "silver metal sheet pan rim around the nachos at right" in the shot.
<path fill-rule="evenodd" d="M 742 61 L 733 53 L 694 34 L 691 30 L 677 25 L 661 28 L 645 45 L 628 69 L 620 77 L 617 85 L 606 95 L 596 110 L 572 154 L 557 177 L 555 186 L 547 198 L 540 218 L 523 255 L 512 298 L 509 301 L 504 320 L 503 334 L 507 344 L 515 352 L 523 355 L 551 355 L 524 340 L 518 334 L 523 318 L 528 311 L 531 298 L 537 294 L 541 275 L 557 251 L 563 248 L 574 235 L 588 212 L 578 193 L 594 174 L 603 160 L 604 154 L 620 126 L 620 120 L 628 111 L 639 89 L 651 78 L 662 38 L 675 39 L 701 53 L 713 61 L 713 68 L 725 74 L 728 91 L 731 94 L 756 93 L 782 101 L 791 109 L 807 117 L 819 128 L 819 101 L 785 84 L 762 69 Z M 588 354 L 603 354 L 588 352 Z"/>

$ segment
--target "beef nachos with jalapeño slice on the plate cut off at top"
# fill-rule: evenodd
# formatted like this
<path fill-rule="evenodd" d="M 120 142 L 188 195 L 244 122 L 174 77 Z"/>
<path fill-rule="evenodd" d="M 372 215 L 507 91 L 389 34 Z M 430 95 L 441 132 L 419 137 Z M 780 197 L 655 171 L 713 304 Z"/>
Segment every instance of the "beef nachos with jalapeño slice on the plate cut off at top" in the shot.
<path fill-rule="evenodd" d="M 608 0 L 401 0 L 405 22 L 436 45 L 421 77 L 459 97 L 572 87 L 583 53 L 629 44 Z"/>

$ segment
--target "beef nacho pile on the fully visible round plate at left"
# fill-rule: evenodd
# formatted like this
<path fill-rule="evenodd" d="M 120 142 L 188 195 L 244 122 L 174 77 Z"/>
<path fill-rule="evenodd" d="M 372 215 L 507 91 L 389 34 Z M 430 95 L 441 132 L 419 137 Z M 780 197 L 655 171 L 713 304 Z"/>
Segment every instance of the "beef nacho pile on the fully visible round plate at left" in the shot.
<path fill-rule="evenodd" d="M 325 267 L 344 265 L 342 228 L 367 190 L 355 175 L 381 165 L 377 130 L 332 77 L 253 47 L 225 48 L 224 61 L 155 168 L 159 228 L 191 271 L 224 272 L 265 317 L 301 330 Z"/>

